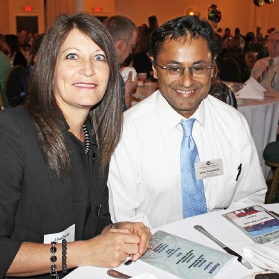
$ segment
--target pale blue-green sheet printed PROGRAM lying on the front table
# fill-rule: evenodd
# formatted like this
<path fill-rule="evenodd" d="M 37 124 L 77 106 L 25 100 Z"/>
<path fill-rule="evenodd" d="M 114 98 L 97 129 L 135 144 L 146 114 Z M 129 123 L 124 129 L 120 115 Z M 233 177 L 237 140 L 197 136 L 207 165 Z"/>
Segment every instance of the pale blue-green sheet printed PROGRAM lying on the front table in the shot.
<path fill-rule="evenodd" d="M 180 278 L 214 278 L 236 259 L 227 253 L 163 231 L 154 233 L 151 242 L 153 248 L 141 260 Z"/>

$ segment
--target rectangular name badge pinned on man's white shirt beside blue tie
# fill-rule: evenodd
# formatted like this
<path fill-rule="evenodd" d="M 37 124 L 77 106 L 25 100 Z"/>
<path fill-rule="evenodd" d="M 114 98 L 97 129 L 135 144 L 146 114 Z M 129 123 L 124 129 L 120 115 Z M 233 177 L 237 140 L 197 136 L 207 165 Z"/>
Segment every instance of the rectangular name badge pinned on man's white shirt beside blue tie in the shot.
<path fill-rule="evenodd" d="M 195 164 L 195 171 L 197 179 L 223 175 L 222 159 L 198 162 Z"/>

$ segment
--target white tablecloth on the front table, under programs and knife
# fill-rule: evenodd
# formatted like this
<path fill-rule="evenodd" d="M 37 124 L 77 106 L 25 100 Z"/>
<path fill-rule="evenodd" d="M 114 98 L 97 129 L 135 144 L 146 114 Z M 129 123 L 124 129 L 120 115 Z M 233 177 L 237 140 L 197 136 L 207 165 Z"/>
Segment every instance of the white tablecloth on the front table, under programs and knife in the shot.
<path fill-rule="evenodd" d="M 264 207 L 268 210 L 273 210 L 279 213 L 279 204 L 266 204 Z M 202 225 L 206 230 L 208 230 L 213 236 L 219 239 L 221 242 L 226 244 L 231 249 L 235 250 L 242 255 L 242 247 L 254 243 L 249 237 L 247 237 L 243 232 L 226 220 L 222 214 L 232 210 L 220 210 L 204 215 L 199 215 L 183 220 L 176 221 L 171 224 L 164 225 L 160 228 L 163 231 L 170 232 L 172 234 L 187 238 L 192 241 L 196 241 L 200 244 L 212 247 L 216 250 L 222 250 L 214 242 L 210 241 L 207 237 L 197 232 L 193 226 Z M 156 231 L 157 229 L 154 229 Z M 153 231 L 153 232 L 154 232 Z M 253 264 L 252 264 L 253 265 Z M 137 276 L 142 273 L 150 273 L 157 277 L 158 279 L 170 279 L 178 278 L 173 276 L 161 269 L 153 267 L 147 263 L 140 260 L 132 263 L 131 265 L 125 266 L 120 265 L 118 268 L 114 268 L 130 276 Z M 98 278 L 98 279 L 111 279 L 112 277 L 107 275 L 108 268 L 97 268 L 97 267 L 79 267 L 67 275 L 66 279 L 83 279 L 83 278 Z M 224 273 L 222 273 L 222 278 L 226 279 L 240 279 L 245 276 L 251 275 L 253 272 L 262 271 L 255 265 L 253 265 L 253 270 L 249 270 L 244 267 L 238 261 L 233 261 Z"/>

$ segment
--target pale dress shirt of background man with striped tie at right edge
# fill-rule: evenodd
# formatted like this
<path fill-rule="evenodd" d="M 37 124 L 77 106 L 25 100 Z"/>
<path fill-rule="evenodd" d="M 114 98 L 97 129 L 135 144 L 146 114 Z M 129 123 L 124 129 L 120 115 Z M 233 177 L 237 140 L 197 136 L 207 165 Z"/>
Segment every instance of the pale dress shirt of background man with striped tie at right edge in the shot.
<path fill-rule="evenodd" d="M 270 60 L 270 57 L 262 58 L 258 61 L 256 61 L 252 71 L 250 78 L 253 77 L 257 79 L 260 74 L 263 72 L 264 69 L 268 66 L 268 61 Z M 261 81 L 261 85 L 266 89 L 274 89 L 279 92 L 279 56 L 273 58 L 273 64 L 267 74 L 264 76 L 263 80 Z M 275 74 L 275 75 L 274 75 Z M 271 81 L 274 77 L 274 87 L 271 87 Z"/>

